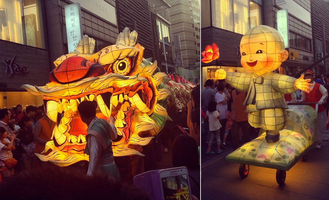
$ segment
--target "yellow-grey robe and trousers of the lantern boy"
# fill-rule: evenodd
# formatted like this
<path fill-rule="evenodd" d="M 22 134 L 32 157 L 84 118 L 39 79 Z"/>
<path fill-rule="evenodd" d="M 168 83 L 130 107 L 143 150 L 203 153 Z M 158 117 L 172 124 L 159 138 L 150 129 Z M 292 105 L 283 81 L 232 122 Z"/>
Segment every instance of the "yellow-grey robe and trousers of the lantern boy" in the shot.
<path fill-rule="evenodd" d="M 279 131 L 286 126 L 288 109 L 283 93 L 292 93 L 295 78 L 267 72 L 255 73 L 227 72 L 226 82 L 232 87 L 248 92 L 243 105 L 247 106 L 248 121 L 255 128 Z"/>

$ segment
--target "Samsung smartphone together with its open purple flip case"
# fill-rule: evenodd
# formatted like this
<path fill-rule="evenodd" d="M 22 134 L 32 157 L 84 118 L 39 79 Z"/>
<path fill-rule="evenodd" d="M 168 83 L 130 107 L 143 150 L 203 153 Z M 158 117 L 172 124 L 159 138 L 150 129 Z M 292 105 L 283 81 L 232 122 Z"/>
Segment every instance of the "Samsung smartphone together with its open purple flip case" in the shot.
<path fill-rule="evenodd" d="M 189 173 L 186 167 L 148 171 L 134 177 L 134 185 L 150 199 L 190 200 Z"/>

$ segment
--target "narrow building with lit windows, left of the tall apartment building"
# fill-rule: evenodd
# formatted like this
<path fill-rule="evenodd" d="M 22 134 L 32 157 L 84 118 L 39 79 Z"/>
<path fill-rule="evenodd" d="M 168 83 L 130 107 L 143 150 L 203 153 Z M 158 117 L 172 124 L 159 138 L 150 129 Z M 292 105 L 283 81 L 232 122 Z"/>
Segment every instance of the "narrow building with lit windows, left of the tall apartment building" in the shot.
<path fill-rule="evenodd" d="M 149 19 L 153 30 L 153 60 L 157 60 L 161 71 L 177 74 L 175 67 L 173 35 L 169 8 L 164 0 L 148 0 Z"/>

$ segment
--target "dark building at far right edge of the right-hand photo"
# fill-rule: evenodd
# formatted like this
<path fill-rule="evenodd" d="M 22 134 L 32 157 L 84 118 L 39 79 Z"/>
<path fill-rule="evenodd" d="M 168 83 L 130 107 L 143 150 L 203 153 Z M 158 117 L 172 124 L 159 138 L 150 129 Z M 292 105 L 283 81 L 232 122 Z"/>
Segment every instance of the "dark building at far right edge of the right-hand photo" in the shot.
<path fill-rule="evenodd" d="M 311 0 L 313 56 L 318 61 L 329 53 L 329 1 Z M 315 67 L 319 74 L 329 73 L 329 58 Z"/>

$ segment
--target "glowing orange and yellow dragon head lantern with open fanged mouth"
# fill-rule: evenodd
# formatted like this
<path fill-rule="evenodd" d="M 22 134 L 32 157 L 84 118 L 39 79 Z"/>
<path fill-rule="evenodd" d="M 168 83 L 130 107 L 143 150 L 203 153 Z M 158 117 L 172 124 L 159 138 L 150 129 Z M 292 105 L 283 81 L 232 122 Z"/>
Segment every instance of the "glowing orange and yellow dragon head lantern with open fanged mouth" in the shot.
<path fill-rule="evenodd" d="M 43 154 L 51 152 L 38 154 L 40 160 L 60 166 L 89 160 L 84 154 L 87 126 L 77 112 L 85 100 L 97 102 L 98 117 L 114 117 L 119 136 L 113 142 L 114 156 L 142 155 L 135 149 L 148 144 L 163 128 L 167 112 L 158 101 L 170 91 L 162 84 L 167 75 L 154 73 L 157 62 L 144 59 L 144 48 L 136 41 L 137 32 L 125 28 L 116 44 L 94 53 L 95 40 L 84 36 L 74 52 L 54 62 L 49 83 L 22 86 L 43 97 L 47 115 L 57 122 Z"/>

